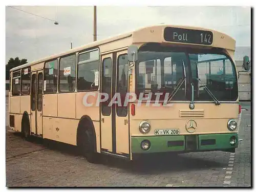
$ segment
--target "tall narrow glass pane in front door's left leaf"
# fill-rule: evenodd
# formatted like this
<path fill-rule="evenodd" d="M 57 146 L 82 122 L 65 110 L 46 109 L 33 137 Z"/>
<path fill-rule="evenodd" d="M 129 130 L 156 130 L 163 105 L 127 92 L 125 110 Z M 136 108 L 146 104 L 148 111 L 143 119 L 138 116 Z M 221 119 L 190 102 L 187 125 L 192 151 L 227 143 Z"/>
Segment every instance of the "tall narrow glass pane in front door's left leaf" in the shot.
<path fill-rule="evenodd" d="M 102 61 L 102 81 L 101 92 L 109 95 L 109 99 L 105 102 L 101 102 L 102 115 L 110 115 L 111 107 L 108 106 L 111 101 L 111 76 L 112 76 L 112 60 L 111 58 L 105 58 Z"/>

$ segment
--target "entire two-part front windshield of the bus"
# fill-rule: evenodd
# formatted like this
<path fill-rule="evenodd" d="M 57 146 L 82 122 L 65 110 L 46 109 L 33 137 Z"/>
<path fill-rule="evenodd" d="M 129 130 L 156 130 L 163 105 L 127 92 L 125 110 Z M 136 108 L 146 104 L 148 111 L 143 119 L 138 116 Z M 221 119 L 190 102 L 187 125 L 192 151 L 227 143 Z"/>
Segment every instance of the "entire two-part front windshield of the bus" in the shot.
<path fill-rule="evenodd" d="M 191 82 L 194 84 L 195 101 L 212 101 L 202 83 L 220 101 L 232 101 L 238 97 L 236 69 L 231 60 L 220 51 L 171 49 L 146 46 L 139 50 L 136 62 L 136 94 L 152 92 L 172 93 L 180 80 L 181 87 L 172 97 L 173 101 L 191 99 Z M 200 80 L 201 83 L 200 83 Z M 138 97 L 139 98 L 139 97 Z"/>

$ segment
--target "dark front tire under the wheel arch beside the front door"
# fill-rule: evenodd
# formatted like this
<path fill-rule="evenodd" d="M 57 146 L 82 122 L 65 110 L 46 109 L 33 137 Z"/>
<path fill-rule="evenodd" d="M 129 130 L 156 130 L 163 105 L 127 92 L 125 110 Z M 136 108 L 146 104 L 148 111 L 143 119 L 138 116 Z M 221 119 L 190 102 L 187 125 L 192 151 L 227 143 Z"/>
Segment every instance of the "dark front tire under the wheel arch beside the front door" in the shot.
<path fill-rule="evenodd" d="M 99 163 L 99 154 L 96 152 L 96 138 L 93 128 L 80 127 L 78 131 L 78 150 L 90 163 Z"/>

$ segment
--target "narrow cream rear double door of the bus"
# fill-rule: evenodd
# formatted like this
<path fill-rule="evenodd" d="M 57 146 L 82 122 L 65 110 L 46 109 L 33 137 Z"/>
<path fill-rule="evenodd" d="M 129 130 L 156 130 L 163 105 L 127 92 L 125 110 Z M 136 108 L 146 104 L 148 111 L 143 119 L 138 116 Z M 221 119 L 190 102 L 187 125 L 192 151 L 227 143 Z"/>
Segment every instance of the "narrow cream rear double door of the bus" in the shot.
<path fill-rule="evenodd" d="M 31 133 L 42 136 L 42 71 L 32 72 Z"/>

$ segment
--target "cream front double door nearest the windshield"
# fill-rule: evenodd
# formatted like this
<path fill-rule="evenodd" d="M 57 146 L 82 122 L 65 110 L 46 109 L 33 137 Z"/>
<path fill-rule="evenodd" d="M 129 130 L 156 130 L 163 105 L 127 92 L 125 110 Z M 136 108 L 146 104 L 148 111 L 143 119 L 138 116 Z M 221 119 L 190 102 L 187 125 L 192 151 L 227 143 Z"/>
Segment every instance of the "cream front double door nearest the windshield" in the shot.
<path fill-rule="evenodd" d="M 101 93 L 108 100 L 101 102 L 101 152 L 129 157 L 128 106 L 123 106 L 127 92 L 127 51 L 101 57 Z M 117 94 L 116 94 L 117 93 Z M 116 96 L 117 103 L 111 103 Z M 102 96 L 103 97 L 103 96 Z"/>

